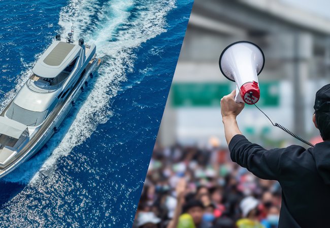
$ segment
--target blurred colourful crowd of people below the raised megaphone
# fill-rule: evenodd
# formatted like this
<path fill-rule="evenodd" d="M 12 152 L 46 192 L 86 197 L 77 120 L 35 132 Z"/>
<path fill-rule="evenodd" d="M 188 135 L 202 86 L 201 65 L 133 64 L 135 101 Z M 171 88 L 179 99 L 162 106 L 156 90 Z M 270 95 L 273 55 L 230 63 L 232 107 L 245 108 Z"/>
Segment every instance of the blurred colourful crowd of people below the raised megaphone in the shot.
<path fill-rule="evenodd" d="M 233 163 L 227 147 L 155 145 L 134 228 L 274 228 L 281 188 Z"/>

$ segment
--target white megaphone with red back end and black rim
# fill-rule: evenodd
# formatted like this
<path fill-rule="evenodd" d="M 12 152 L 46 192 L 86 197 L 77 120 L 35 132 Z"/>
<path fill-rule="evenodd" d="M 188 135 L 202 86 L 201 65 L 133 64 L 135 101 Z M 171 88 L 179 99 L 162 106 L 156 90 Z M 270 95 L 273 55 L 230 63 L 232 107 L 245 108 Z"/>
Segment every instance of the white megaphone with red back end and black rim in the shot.
<path fill-rule="evenodd" d="M 265 65 L 262 50 L 249 41 L 227 46 L 221 53 L 219 66 L 228 80 L 236 82 L 237 103 L 255 104 L 260 98 L 258 75 Z"/>

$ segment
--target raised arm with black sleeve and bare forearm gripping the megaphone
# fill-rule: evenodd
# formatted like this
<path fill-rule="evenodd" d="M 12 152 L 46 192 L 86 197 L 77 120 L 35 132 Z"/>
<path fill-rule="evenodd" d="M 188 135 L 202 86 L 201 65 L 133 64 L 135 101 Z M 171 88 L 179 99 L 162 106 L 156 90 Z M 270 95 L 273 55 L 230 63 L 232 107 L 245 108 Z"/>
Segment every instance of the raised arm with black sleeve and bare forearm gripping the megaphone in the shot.
<path fill-rule="evenodd" d="M 265 149 L 249 142 L 238 128 L 236 117 L 244 108 L 244 103 L 236 103 L 235 90 L 221 99 L 221 115 L 224 134 L 230 150 L 230 158 L 262 179 L 279 180 L 282 172 L 294 169 L 297 160 L 305 151 L 301 146 Z"/>

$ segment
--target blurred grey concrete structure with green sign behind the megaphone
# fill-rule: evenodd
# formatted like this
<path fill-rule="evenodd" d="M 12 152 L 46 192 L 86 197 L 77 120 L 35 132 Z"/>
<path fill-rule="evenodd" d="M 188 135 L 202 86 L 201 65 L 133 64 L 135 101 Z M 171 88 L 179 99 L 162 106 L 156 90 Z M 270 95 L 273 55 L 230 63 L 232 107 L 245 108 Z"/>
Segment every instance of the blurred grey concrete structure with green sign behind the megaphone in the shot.
<path fill-rule="evenodd" d="M 307 139 L 318 135 L 313 104 L 316 91 L 330 82 L 330 17 L 308 9 L 313 2 L 303 1 L 305 8 L 291 2 L 195 0 L 159 131 L 162 145 L 204 143 L 212 136 L 224 145 L 219 101 L 235 84 L 223 77 L 218 60 L 227 45 L 240 40 L 265 53 L 259 107 Z M 238 122 L 256 142 L 298 143 L 254 106 L 246 105 Z"/>

